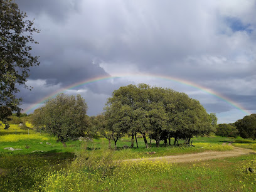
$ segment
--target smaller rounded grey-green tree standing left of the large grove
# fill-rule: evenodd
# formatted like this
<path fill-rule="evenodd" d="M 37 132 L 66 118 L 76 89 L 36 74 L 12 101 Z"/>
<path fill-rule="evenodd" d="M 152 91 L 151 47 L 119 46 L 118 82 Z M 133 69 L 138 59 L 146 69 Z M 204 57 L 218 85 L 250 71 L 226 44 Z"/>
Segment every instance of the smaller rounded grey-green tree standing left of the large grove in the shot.
<path fill-rule="evenodd" d="M 87 104 L 80 96 L 68 96 L 63 93 L 55 99 L 46 101 L 44 107 L 35 110 L 32 124 L 42 130 L 58 137 L 57 141 L 63 143 L 70 139 L 84 136 L 88 127 L 86 116 Z"/>

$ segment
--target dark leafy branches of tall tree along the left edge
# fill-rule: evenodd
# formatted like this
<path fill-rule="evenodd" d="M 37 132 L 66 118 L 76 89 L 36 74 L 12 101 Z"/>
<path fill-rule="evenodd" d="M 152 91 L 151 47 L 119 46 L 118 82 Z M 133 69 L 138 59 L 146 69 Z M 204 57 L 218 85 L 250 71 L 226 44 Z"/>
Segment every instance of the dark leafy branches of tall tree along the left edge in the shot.
<path fill-rule="evenodd" d="M 33 21 L 25 20 L 26 13 L 19 11 L 12 0 L 0 0 L 0 120 L 10 112 L 19 110 L 21 99 L 16 98 L 17 85 L 24 85 L 29 68 L 39 65 L 38 56 L 31 55 Z"/>

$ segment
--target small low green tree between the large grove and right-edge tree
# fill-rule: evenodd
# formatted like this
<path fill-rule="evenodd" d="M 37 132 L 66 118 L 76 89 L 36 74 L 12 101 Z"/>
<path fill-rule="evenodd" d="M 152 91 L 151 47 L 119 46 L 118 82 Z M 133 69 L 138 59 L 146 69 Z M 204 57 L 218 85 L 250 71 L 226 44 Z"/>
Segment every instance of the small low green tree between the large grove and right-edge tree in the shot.
<path fill-rule="evenodd" d="M 237 137 L 238 131 L 233 124 L 218 124 L 216 127 L 216 136 Z"/>

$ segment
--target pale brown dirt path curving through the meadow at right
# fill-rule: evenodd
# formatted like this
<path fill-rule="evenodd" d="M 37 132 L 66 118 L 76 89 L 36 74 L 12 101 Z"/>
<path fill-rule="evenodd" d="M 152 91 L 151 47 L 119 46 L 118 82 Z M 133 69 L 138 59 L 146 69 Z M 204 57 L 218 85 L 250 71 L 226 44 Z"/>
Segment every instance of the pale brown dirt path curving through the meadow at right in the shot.
<path fill-rule="evenodd" d="M 227 143 L 224 143 L 227 144 Z M 231 144 L 229 144 L 231 145 Z M 235 157 L 242 154 L 256 153 L 252 149 L 234 147 L 232 151 L 205 151 L 196 154 L 181 154 L 176 156 L 152 157 L 149 161 L 166 161 L 168 163 L 184 163 L 192 161 L 204 161 L 208 159 L 218 159 L 223 157 Z M 143 159 L 127 159 L 125 161 L 142 161 Z"/>

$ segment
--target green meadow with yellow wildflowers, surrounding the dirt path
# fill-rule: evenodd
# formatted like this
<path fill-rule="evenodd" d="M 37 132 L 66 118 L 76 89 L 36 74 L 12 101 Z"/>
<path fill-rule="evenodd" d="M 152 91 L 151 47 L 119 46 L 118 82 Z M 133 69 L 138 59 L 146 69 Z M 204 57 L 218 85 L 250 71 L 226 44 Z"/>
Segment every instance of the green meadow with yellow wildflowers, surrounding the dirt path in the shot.
<path fill-rule="evenodd" d="M 167 163 L 147 158 L 191 154 L 203 151 L 229 151 L 235 147 L 256 149 L 250 139 L 218 136 L 194 137 L 195 147 L 171 146 L 146 149 L 142 138 L 131 146 L 131 138 L 122 137 L 117 150 L 107 149 L 104 138 L 70 141 L 67 147 L 55 137 L 35 132 L 30 124 L 21 129 L 11 125 L 0 129 L 0 191 L 255 191 L 256 154 L 237 157 Z M 30 127 L 30 128 L 29 128 Z M 46 142 L 48 144 L 46 144 Z M 232 146 L 222 145 L 233 142 Z M 136 142 L 134 143 L 136 146 Z M 21 149 L 9 151 L 13 147 Z M 114 147 L 114 144 L 113 146 Z M 147 154 L 147 152 L 155 152 Z M 131 162 L 124 159 L 143 158 Z"/>

